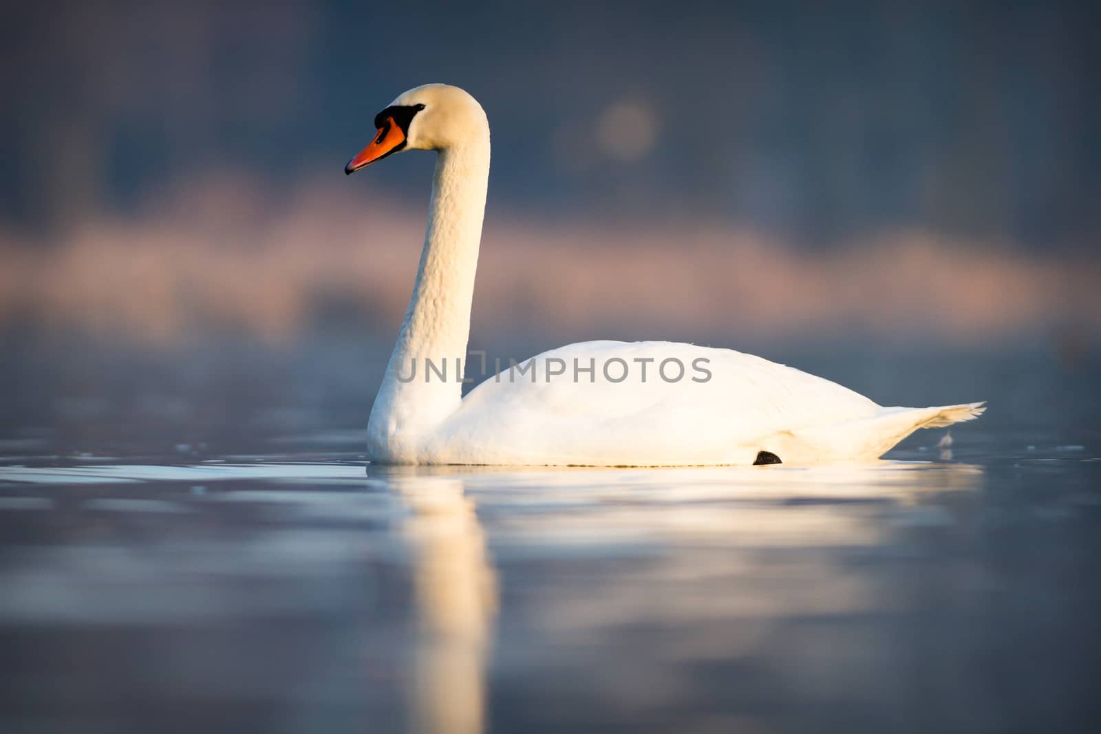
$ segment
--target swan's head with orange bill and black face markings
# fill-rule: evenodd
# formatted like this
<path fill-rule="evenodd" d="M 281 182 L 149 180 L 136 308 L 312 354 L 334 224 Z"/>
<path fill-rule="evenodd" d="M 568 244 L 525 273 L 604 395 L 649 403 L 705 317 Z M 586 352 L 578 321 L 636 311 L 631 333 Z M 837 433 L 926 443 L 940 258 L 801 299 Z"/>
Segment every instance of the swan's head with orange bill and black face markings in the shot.
<path fill-rule="evenodd" d="M 446 84 L 410 89 L 374 116 L 374 140 L 348 162 L 345 173 L 400 151 L 440 151 L 489 139 L 489 123 L 478 100 Z"/>

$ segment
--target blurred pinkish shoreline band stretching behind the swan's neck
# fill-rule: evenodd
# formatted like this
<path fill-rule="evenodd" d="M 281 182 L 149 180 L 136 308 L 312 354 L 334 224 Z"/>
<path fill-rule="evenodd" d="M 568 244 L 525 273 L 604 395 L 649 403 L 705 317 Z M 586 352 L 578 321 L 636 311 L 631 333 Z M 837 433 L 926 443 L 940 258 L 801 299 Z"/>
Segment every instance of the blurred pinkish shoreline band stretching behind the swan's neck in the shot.
<path fill-rule="evenodd" d="M 279 343 L 337 311 L 388 333 L 405 309 L 423 231 L 423 205 L 374 189 L 315 183 L 273 207 L 233 177 L 126 218 L 81 220 L 50 241 L 0 222 L 0 326 L 152 343 L 228 329 Z M 473 325 L 946 344 L 1059 328 L 1093 337 L 1099 282 L 1093 258 L 1040 259 L 914 230 L 807 253 L 713 224 L 548 226 L 491 210 Z"/>

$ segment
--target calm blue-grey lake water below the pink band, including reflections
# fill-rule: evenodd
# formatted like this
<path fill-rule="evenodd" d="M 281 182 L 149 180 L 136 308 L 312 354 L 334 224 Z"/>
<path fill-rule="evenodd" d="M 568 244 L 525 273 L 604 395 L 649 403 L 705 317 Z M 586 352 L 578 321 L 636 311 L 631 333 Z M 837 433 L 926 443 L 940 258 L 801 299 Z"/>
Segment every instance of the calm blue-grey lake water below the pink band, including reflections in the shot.
<path fill-rule="evenodd" d="M 85 357 L 0 364 L 0 731 L 1101 721 L 1089 355 L 787 359 L 990 410 L 873 464 L 664 470 L 369 465 L 358 352 Z"/>

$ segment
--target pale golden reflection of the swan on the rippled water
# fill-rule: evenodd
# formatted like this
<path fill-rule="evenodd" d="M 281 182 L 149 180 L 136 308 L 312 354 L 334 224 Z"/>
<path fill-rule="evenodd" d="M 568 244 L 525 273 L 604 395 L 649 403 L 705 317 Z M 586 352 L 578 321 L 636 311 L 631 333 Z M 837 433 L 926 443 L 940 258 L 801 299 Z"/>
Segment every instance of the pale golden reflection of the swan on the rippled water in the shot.
<path fill-rule="evenodd" d="M 955 523 L 952 506 L 983 484 L 981 468 L 880 461 L 810 468 L 382 468 L 370 474 L 401 499 L 414 637 L 404 687 L 410 731 L 488 727 L 487 665 L 498 579 L 487 530 L 509 563 L 586 558 L 600 578 L 544 578 L 510 654 L 532 666 L 562 649 L 604 649 L 609 631 L 679 629 L 662 670 L 701 659 L 755 659 L 791 620 L 891 614 L 913 583 L 848 562 L 857 548 L 904 548 L 915 528 Z M 510 556 L 510 554 L 517 554 Z M 619 569 L 606 561 L 615 558 Z M 517 560 L 520 559 L 520 560 Z M 571 573 L 577 573 L 577 567 Z M 514 568 L 514 566 L 509 566 Z M 631 572 L 623 569 L 632 568 Z M 532 583 L 525 580 L 517 583 Z M 645 679 L 645 649 L 599 655 L 579 679 L 620 686 L 642 705 L 663 689 Z M 808 664 L 809 665 L 809 664 Z M 618 681 L 618 682 L 617 682 Z M 644 693 L 643 693 L 644 692 Z M 610 693 L 609 693 L 610 694 Z M 636 697 L 641 697 L 636 700 Z"/>

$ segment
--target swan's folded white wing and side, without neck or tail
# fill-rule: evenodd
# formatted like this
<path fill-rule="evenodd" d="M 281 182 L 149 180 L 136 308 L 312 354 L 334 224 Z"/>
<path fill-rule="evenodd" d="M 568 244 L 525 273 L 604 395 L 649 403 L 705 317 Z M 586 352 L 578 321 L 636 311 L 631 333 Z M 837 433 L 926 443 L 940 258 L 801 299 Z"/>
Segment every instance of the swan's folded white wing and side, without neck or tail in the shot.
<path fill-rule="evenodd" d="M 429 458 L 751 463 L 768 436 L 879 409 L 837 383 L 728 349 L 590 341 L 537 354 L 478 385 L 443 426 Z"/>

